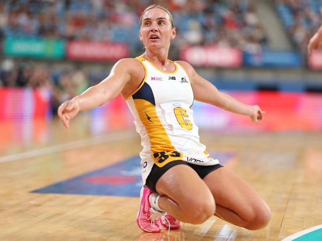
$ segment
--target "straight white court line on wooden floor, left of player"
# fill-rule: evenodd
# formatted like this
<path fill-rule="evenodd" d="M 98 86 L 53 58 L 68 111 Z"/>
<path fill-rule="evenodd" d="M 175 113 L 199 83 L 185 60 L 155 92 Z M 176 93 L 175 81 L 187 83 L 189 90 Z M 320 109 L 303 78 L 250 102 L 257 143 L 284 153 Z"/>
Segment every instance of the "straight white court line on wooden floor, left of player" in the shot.
<path fill-rule="evenodd" d="M 96 136 L 96 137 L 91 137 L 91 138 L 87 138 L 87 139 L 81 139 L 81 140 L 77 140 L 77 141 L 63 143 L 63 144 L 59 144 L 59 145 L 52 145 L 52 146 L 48 146 L 48 147 L 44 147 L 44 148 L 25 151 L 25 152 L 21 152 L 21 153 L 17 153 L 17 154 L 2 156 L 2 157 L 0 157 L 0 163 L 17 161 L 17 160 L 21 160 L 21 159 L 25 159 L 25 158 L 41 156 L 41 155 L 45 155 L 45 154 L 75 149 L 75 148 L 84 147 L 84 146 L 102 144 L 102 143 L 105 143 L 108 141 L 124 139 L 125 137 L 131 137 L 131 136 L 134 137 L 134 134 L 135 134 L 135 136 L 137 135 L 137 133 L 129 132 L 128 130 L 120 131 L 120 132 L 112 132 L 112 133 L 106 134 L 104 136 Z"/>

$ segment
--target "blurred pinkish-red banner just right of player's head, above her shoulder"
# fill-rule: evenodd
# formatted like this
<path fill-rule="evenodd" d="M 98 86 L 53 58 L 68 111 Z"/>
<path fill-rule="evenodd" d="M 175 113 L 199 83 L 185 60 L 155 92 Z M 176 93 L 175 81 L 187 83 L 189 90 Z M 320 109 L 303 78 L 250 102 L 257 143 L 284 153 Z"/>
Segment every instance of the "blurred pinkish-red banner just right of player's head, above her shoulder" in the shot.
<path fill-rule="evenodd" d="M 181 49 L 181 59 L 194 66 L 241 67 L 243 53 L 239 48 L 189 46 Z"/>

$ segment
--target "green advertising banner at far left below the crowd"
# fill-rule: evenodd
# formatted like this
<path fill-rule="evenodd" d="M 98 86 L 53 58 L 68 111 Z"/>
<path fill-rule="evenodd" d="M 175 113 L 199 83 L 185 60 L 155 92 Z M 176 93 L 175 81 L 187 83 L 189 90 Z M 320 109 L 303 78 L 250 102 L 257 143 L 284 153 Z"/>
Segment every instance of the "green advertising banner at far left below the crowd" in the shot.
<path fill-rule="evenodd" d="M 6 38 L 3 52 L 11 57 L 62 59 L 65 41 L 62 39 Z"/>

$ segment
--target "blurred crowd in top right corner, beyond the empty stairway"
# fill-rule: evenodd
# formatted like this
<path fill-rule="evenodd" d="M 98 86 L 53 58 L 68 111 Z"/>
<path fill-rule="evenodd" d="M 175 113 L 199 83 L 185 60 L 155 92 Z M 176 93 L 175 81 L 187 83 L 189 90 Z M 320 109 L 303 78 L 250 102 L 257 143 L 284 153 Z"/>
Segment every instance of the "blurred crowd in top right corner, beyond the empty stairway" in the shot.
<path fill-rule="evenodd" d="M 276 9 L 296 48 L 306 51 L 322 23 L 322 0 L 276 0 Z"/>

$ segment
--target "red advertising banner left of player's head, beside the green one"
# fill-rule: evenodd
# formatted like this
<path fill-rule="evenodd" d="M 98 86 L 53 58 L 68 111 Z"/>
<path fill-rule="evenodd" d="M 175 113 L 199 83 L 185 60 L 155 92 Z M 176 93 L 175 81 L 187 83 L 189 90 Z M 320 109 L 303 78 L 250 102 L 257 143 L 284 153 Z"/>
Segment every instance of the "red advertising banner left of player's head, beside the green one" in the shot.
<path fill-rule="evenodd" d="M 129 57 L 129 47 L 121 43 L 69 41 L 66 57 L 71 60 L 115 61 Z"/>

